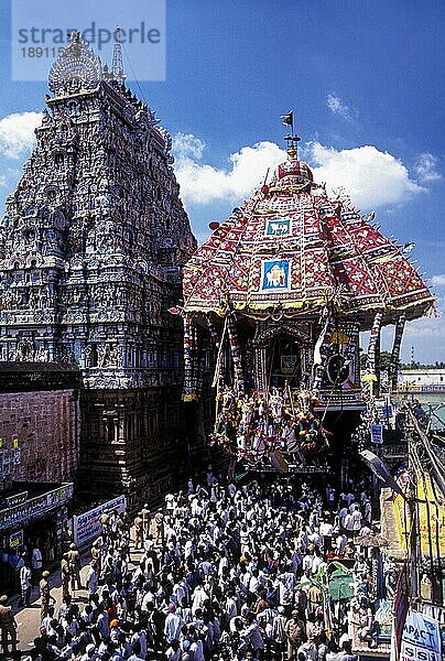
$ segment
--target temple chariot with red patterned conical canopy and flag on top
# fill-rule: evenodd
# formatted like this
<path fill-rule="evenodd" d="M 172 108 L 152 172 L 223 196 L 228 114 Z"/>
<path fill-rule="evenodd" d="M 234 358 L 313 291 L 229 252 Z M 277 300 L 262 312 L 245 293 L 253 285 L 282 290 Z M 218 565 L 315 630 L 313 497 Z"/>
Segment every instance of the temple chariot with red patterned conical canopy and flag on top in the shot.
<path fill-rule="evenodd" d="M 292 124 L 292 113 L 285 123 Z M 204 329 L 216 354 L 210 444 L 248 468 L 314 470 L 329 453 L 329 412 L 362 411 L 379 388 L 380 330 L 394 326 L 390 378 L 408 319 L 434 296 L 403 248 L 341 192 L 287 160 L 184 269 L 184 400 L 200 390 Z M 345 182 L 347 185 L 347 182 Z M 359 333 L 369 330 L 360 376 Z"/>

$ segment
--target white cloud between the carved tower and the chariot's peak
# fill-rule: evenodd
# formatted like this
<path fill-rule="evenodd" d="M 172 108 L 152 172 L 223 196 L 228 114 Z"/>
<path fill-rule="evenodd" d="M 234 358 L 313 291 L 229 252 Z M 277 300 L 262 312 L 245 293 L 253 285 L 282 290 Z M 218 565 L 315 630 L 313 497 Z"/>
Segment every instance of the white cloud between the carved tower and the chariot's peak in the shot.
<path fill-rule="evenodd" d="M 274 142 L 258 142 L 230 154 L 230 166 L 217 169 L 202 163 L 205 143 L 192 134 L 173 139 L 175 174 L 181 197 L 187 204 L 208 204 L 218 199 L 241 202 L 270 172 L 285 160 L 286 153 Z"/>

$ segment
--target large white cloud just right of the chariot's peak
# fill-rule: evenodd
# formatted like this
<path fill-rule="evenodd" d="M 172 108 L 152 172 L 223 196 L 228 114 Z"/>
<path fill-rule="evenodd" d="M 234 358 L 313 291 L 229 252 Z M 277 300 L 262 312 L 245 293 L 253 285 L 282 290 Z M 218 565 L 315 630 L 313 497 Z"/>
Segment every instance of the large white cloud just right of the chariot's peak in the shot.
<path fill-rule="evenodd" d="M 337 151 L 319 142 L 307 145 L 314 164 L 314 178 L 325 182 L 329 192 L 344 187 L 361 209 L 400 204 L 425 188 L 410 178 L 409 171 L 395 156 L 373 145 Z"/>

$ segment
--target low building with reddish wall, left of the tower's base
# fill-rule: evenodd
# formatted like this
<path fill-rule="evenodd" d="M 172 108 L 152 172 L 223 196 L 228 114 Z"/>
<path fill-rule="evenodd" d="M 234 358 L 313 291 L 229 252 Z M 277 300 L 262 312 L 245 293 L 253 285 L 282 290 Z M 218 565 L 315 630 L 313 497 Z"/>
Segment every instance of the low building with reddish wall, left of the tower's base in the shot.
<path fill-rule="evenodd" d="M 37 544 L 47 564 L 62 553 L 79 463 L 79 386 L 70 365 L 0 362 L 0 548 L 7 553 Z M 15 575 L 3 560 L 3 588 L 17 588 Z"/>

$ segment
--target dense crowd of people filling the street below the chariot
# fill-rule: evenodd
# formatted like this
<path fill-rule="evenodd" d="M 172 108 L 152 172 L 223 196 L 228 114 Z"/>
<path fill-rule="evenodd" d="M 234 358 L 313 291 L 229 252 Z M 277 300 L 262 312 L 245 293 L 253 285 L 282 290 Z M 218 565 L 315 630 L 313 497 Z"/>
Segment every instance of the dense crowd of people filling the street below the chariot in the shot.
<path fill-rule="evenodd" d="M 355 545 L 371 518 L 363 485 L 223 486 L 211 472 L 154 516 L 105 511 L 85 585 L 74 544 L 59 608 L 42 577 L 31 659 L 354 661 L 352 627 L 369 647 L 377 639 L 371 561 Z M 329 593 L 339 561 L 355 585 L 347 599 Z"/>

